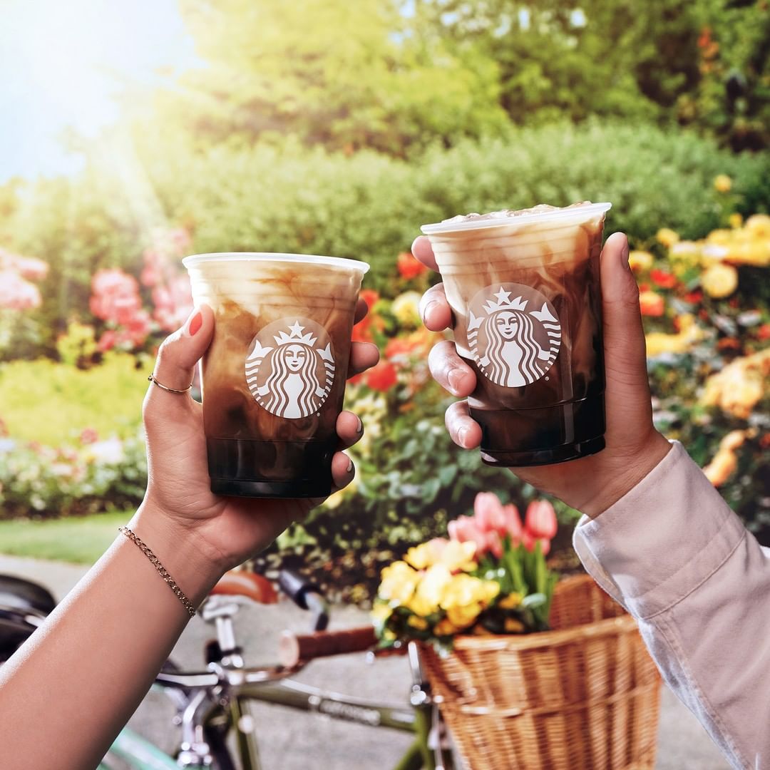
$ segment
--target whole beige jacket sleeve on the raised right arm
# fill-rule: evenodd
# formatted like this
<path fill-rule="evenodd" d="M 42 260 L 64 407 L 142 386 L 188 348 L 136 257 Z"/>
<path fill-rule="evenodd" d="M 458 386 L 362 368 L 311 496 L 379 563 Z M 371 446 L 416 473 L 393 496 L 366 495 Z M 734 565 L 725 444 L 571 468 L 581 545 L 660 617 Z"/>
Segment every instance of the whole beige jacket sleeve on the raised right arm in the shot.
<path fill-rule="evenodd" d="M 770 768 L 770 549 L 681 444 L 574 547 L 735 768 Z"/>

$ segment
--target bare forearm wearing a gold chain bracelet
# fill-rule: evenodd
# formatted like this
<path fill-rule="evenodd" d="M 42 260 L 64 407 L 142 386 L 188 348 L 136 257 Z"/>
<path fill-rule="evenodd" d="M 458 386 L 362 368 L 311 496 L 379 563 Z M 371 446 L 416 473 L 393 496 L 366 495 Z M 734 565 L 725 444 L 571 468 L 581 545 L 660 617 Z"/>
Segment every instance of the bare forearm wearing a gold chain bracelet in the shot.
<path fill-rule="evenodd" d="M 146 509 L 130 526 L 197 606 L 219 574 L 194 539 Z M 4 761 L 18 770 L 95 767 L 187 621 L 188 612 L 146 555 L 119 535 L 0 668 Z"/>

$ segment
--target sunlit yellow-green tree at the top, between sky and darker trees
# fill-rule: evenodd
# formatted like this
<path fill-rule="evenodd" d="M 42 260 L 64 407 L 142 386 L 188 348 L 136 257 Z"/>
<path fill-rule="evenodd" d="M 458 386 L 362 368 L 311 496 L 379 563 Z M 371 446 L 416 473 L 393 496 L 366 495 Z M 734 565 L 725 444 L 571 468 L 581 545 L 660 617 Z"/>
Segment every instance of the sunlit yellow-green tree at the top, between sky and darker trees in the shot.
<path fill-rule="evenodd" d="M 505 126 L 497 66 L 417 39 L 391 0 L 182 0 L 205 67 L 159 107 L 205 141 L 287 133 L 402 153 Z"/>

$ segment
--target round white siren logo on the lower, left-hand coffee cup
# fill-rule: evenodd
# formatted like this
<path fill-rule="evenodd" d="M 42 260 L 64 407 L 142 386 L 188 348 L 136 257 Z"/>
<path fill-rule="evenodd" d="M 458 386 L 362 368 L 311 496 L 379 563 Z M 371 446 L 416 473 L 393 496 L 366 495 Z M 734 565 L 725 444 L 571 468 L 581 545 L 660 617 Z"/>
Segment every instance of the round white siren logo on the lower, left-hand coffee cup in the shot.
<path fill-rule="evenodd" d="M 260 406 L 297 419 L 320 410 L 334 381 L 332 343 L 308 318 L 283 318 L 259 331 L 246 355 L 246 384 Z"/>

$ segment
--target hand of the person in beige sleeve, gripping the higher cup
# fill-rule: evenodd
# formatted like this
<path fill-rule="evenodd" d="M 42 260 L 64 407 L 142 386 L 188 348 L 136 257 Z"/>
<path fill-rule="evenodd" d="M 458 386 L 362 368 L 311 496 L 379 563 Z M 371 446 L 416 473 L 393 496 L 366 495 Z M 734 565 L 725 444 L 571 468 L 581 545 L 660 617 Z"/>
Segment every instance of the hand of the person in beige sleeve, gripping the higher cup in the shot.
<path fill-rule="evenodd" d="M 414 241 L 412 253 L 424 265 L 438 269 L 427 237 L 420 236 Z M 652 424 L 639 290 L 628 267 L 628 239 L 623 233 L 614 233 L 604 244 L 601 290 L 607 380 L 606 448 L 568 463 L 511 468 L 527 484 L 560 497 L 590 517 L 598 516 L 620 500 L 670 448 Z M 432 331 L 451 326 L 452 311 L 442 284 L 423 295 L 420 313 L 423 323 Z M 457 355 L 454 342 L 444 340 L 434 346 L 428 363 L 430 373 L 445 390 L 462 399 L 473 393 L 476 374 Z M 479 446 L 481 429 L 470 417 L 466 400 L 447 409 L 446 423 L 455 444 L 465 449 Z"/>

